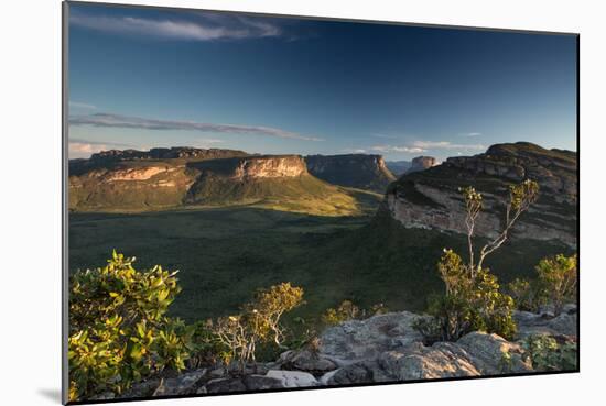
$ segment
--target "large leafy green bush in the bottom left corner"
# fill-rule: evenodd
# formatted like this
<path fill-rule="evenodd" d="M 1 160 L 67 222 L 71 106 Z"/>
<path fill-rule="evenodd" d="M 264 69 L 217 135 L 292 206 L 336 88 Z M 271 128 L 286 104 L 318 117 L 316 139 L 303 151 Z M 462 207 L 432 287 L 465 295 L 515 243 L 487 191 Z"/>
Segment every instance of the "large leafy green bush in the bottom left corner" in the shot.
<path fill-rule="evenodd" d="M 185 325 L 164 316 L 180 292 L 176 272 L 139 272 L 133 262 L 115 251 L 107 266 L 71 277 L 71 400 L 185 367 Z"/>

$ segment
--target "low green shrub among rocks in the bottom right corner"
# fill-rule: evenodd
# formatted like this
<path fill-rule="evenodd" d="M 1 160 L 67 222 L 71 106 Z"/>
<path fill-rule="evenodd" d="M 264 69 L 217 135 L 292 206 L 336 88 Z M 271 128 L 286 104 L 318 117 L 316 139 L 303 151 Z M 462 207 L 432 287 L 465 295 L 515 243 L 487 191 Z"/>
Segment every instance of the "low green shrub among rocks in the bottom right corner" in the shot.
<path fill-rule="evenodd" d="M 559 343 L 553 337 L 537 334 L 522 341 L 522 358 L 537 371 L 571 371 L 577 365 L 576 342 Z"/>

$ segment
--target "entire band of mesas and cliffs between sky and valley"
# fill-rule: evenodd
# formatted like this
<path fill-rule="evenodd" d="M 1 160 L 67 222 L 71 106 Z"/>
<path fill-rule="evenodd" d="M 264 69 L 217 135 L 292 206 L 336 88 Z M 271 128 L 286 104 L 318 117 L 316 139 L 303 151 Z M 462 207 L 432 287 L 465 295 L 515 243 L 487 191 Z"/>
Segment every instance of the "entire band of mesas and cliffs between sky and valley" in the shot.
<path fill-rule="evenodd" d="M 256 155 L 191 147 L 108 151 L 69 162 L 69 209 L 147 211 L 255 206 L 316 216 L 370 215 L 404 228 L 463 232 L 458 188 L 485 196 L 477 234 L 494 237 L 507 187 L 531 178 L 540 199 L 515 233 L 576 244 L 577 156 L 520 142 L 436 165 L 414 158 L 398 179 L 380 155 Z M 393 163 L 391 163 L 393 164 Z M 400 168 L 403 165 L 399 163 Z M 385 196 L 385 198 L 383 198 Z"/>

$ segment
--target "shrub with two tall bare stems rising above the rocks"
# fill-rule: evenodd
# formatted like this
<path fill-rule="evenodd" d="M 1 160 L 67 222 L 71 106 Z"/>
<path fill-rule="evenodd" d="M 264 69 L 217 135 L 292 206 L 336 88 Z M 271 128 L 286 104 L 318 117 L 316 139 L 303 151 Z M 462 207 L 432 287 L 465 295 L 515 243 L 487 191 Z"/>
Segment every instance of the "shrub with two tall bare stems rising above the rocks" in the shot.
<path fill-rule="evenodd" d="M 476 253 L 474 233 L 476 220 L 483 209 L 481 194 L 473 187 L 461 190 L 465 201 L 468 260 L 453 250 L 444 250 L 437 271 L 444 283 L 444 295 L 429 307 L 433 321 L 419 321 L 416 328 L 430 339 L 455 341 L 469 331 L 496 332 L 511 339 L 516 333 L 512 319 L 513 299 L 499 290 L 497 276 L 484 266 L 486 257 L 508 239 L 519 217 L 537 200 L 539 185 L 524 180 L 509 187 L 502 230 Z"/>

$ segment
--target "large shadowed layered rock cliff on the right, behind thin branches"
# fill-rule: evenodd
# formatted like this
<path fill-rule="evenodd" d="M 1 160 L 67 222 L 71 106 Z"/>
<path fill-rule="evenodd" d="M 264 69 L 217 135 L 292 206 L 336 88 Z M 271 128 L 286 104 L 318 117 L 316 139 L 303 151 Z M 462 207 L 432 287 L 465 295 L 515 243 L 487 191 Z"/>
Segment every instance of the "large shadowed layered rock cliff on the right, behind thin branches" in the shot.
<path fill-rule="evenodd" d="M 485 154 L 448 158 L 393 183 L 381 210 L 405 228 L 465 232 L 459 187 L 474 186 L 484 195 L 476 235 L 495 238 L 500 228 L 508 185 L 526 178 L 541 187 L 538 202 L 516 224 L 515 238 L 576 246 L 576 154 L 544 150 L 529 143 L 494 145 Z"/>

